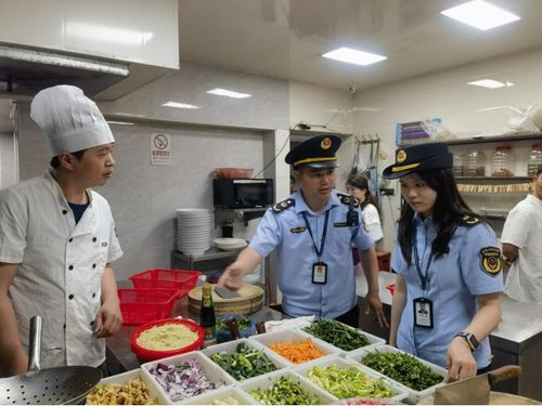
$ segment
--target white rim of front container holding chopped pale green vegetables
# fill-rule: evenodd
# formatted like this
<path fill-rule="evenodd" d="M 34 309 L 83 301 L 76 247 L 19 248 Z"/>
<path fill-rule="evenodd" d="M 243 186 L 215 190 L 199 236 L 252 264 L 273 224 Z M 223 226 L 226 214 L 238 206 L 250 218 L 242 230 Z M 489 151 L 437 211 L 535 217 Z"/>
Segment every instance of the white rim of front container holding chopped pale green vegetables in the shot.
<path fill-rule="evenodd" d="M 339 355 L 331 356 L 331 357 L 327 357 L 325 359 L 322 359 L 322 361 L 315 362 L 315 363 L 307 363 L 307 364 L 304 364 L 304 365 L 298 366 L 296 368 L 293 368 L 292 370 L 296 374 L 299 374 L 301 377 L 304 377 L 308 381 L 310 381 L 310 379 L 308 378 L 308 374 L 312 368 L 314 368 L 317 366 L 321 367 L 321 368 L 337 366 L 341 369 L 353 366 L 353 367 L 358 368 L 359 370 L 361 370 L 363 374 L 365 374 L 369 378 L 371 378 L 373 380 L 378 380 L 382 378 L 384 381 L 384 384 L 397 393 L 390 400 L 396 401 L 396 402 L 401 402 L 402 400 L 406 398 L 406 396 L 409 395 L 409 393 L 406 392 L 406 390 L 404 388 L 402 388 L 401 385 L 399 385 L 397 382 L 392 381 L 391 379 L 386 378 L 386 377 L 382 376 L 380 374 L 376 374 L 374 370 L 365 367 L 364 365 L 352 362 L 350 359 L 345 359 L 345 358 L 340 357 Z M 325 391 L 325 389 L 320 388 L 317 383 L 314 383 L 312 381 L 310 381 L 310 383 L 318 387 L 322 391 Z M 332 396 L 335 401 L 338 400 L 338 397 L 333 395 L 332 393 L 328 393 L 328 395 Z"/>

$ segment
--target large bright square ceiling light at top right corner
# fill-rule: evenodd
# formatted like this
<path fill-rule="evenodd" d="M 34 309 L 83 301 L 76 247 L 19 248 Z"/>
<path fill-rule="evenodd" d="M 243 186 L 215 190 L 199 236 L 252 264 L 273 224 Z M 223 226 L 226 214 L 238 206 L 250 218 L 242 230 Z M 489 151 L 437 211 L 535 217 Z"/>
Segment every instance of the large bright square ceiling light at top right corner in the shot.
<path fill-rule="evenodd" d="M 507 11 L 482 0 L 468 1 L 457 6 L 441 11 L 440 14 L 457 19 L 481 30 L 499 27 L 501 25 L 520 19 L 517 15 L 508 13 Z"/>

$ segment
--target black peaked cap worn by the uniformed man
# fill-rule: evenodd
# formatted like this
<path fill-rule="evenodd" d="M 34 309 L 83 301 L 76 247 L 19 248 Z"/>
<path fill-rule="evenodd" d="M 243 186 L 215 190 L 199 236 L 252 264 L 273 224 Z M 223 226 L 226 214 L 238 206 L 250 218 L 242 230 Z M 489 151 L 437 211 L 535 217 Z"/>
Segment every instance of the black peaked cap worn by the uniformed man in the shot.
<path fill-rule="evenodd" d="M 335 153 L 340 146 L 340 139 L 337 135 L 318 135 L 310 140 L 304 141 L 288 155 L 285 161 L 294 166 L 311 167 L 311 168 L 337 168 L 339 166 Z"/>

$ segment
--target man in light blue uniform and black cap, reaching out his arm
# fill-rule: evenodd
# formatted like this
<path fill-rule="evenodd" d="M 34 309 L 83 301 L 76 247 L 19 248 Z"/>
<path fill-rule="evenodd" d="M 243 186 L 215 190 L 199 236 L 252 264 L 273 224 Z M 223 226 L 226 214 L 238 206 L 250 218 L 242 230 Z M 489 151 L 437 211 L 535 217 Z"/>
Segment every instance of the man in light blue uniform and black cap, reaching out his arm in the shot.
<path fill-rule="evenodd" d="M 339 146 L 338 136 L 320 135 L 289 152 L 285 160 L 294 167 L 299 191 L 268 209 L 250 245 L 228 266 L 219 285 L 238 289 L 243 276 L 276 250 L 284 313 L 337 318 L 357 327 L 353 243 L 369 285 L 365 313 L 372 310 L 378 324 L 387 326 L 378 296 L 376 252 L 363 228 L 359 201 L 334 189 Z"/>

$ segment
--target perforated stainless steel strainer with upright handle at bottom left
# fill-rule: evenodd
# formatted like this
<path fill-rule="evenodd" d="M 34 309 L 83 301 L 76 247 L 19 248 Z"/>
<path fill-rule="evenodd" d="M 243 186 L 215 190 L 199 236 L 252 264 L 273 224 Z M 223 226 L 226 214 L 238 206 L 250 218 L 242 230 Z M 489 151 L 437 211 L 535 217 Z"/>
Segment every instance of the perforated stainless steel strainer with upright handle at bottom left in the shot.
<path fill-rule="evenodd" d="M 1 405 L 77 404 L 102 379 L 99 368 L 68 366 L 40 369 L 42 318 L 30 319 L 28 371 L 0 379 Z"/>

